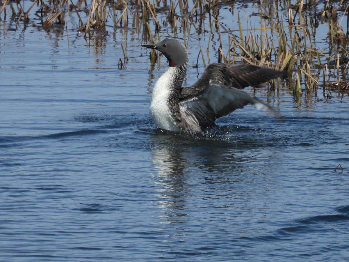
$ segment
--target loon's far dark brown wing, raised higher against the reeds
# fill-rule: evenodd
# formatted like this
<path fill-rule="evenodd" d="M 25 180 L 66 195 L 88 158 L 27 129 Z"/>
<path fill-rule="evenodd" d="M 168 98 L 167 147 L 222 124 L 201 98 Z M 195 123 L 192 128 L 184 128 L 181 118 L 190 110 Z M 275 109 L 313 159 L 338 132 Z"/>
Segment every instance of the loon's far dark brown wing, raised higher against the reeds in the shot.
<path fill-rule="evenodd" d="M 179 99 L 195 96 L 214 81 L 223 86 L 243 89 L 281 77 L 283 72 L 251 64 L 209 64 L 201 78 L 191 87 L 181 90 Z"/>

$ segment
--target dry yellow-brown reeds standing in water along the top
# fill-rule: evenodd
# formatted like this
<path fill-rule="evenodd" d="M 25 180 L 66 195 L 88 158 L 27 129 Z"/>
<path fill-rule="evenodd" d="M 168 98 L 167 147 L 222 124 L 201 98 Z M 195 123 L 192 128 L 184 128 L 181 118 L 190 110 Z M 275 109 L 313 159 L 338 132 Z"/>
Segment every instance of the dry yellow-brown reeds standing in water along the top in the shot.
<path fill-rule="evenodd" d="M 25 7 L 24 7 L 25 3 Z M 29 6 L 28 6 L 29 3 Z M 237 4 L 238 3 L 238 4 Z M 188 38 L 198 39 L 198 60 L 203 65 L 209 61 L 210 39 L 216 43 L 218 63 L 252 63 L 288 71 L 286 82 L 294 95 L 317 96 L 322 88 L 349 93 L 349 3 L 347 1 L 261 0 L 249 3 L 258 12 L 247 14 L 242 2 L 223 0 L 32 0 L 0 2 L 0 21 L 22 23 L 43 30 L 72 29 L 69 19 L 74 15 L 74 30 L 84 33 L 84 38 L 103 37 L 109 28 L 135 30 L 144 43 L 157 43 L 162 37 L 172 35 L 188 43 Z M 228 9 L 234 29 L 220 21 L 220 11 Z M 259 23 L 251 23 L 251 17 Z M 236 26 L 237 24 L 237 26 Z M 314 44 L 319 24 L 327 25 L 327 45 L 318 50 Z M 247 25 L 247 26 L 246 26 Z M 208 45 L 201 46 L 200 38 L 208 36 Z M 321 32 L 323 35 L 324 32 Z M 224 43 L 229 43 L 223 47 Z M 127 51 L 121 42 L 123 59 Z M 157 59 L 155 50 L 150 54 Z M 275 90 L 271 82 L 271 89 Z M 328 96 L 329 94 L 327 94 Z"/>

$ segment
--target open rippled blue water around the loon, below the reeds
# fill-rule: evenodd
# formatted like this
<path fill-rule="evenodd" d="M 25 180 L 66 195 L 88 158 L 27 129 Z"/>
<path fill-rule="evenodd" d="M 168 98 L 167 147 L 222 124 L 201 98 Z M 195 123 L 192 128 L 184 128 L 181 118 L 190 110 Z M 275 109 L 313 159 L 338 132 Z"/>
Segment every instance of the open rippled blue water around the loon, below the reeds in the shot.
<path fill-rule="evenodd" d="M 283 117 L 175 134 L 140 39 L 119 69 L 111 35 L 24 35 L 0 33 L 1 261 L 347 261 L 348 95 L 247 88 Z"/>

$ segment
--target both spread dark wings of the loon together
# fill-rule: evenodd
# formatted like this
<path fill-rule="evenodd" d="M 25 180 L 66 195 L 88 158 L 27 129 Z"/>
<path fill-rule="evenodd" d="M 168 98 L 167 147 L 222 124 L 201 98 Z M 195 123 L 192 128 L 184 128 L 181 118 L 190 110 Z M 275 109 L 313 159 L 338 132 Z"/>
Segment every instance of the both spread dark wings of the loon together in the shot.
<path fill-rule="evenodd" d="M 194 85 L 181 90 L 179 127 L 184 131 L 200 132 L 213 126 L 216 118 L 247 104 L 275 113 L 268 105 L 240 89 L 259 85 L 283 74 L 251 64 L 210 64 Z"/>

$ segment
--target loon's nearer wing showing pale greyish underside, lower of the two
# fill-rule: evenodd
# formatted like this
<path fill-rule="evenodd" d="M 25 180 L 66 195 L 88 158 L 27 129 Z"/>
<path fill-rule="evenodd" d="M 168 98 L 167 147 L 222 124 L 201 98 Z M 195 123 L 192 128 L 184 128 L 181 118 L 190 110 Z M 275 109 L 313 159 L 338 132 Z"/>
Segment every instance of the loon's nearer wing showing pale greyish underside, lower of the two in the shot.
<path fill-rule="evenodd" d="M 213 126 L 216 118 L 243 108 L 247 104 L 254 104 L 258 109 L 273 111 L 268 105 L 240 89 L 211 81 L 200 94 L 180 101 L 183 119 L 189 120 L 181 128 L 185 131 L 201 131 L 202 128 Z"/>

